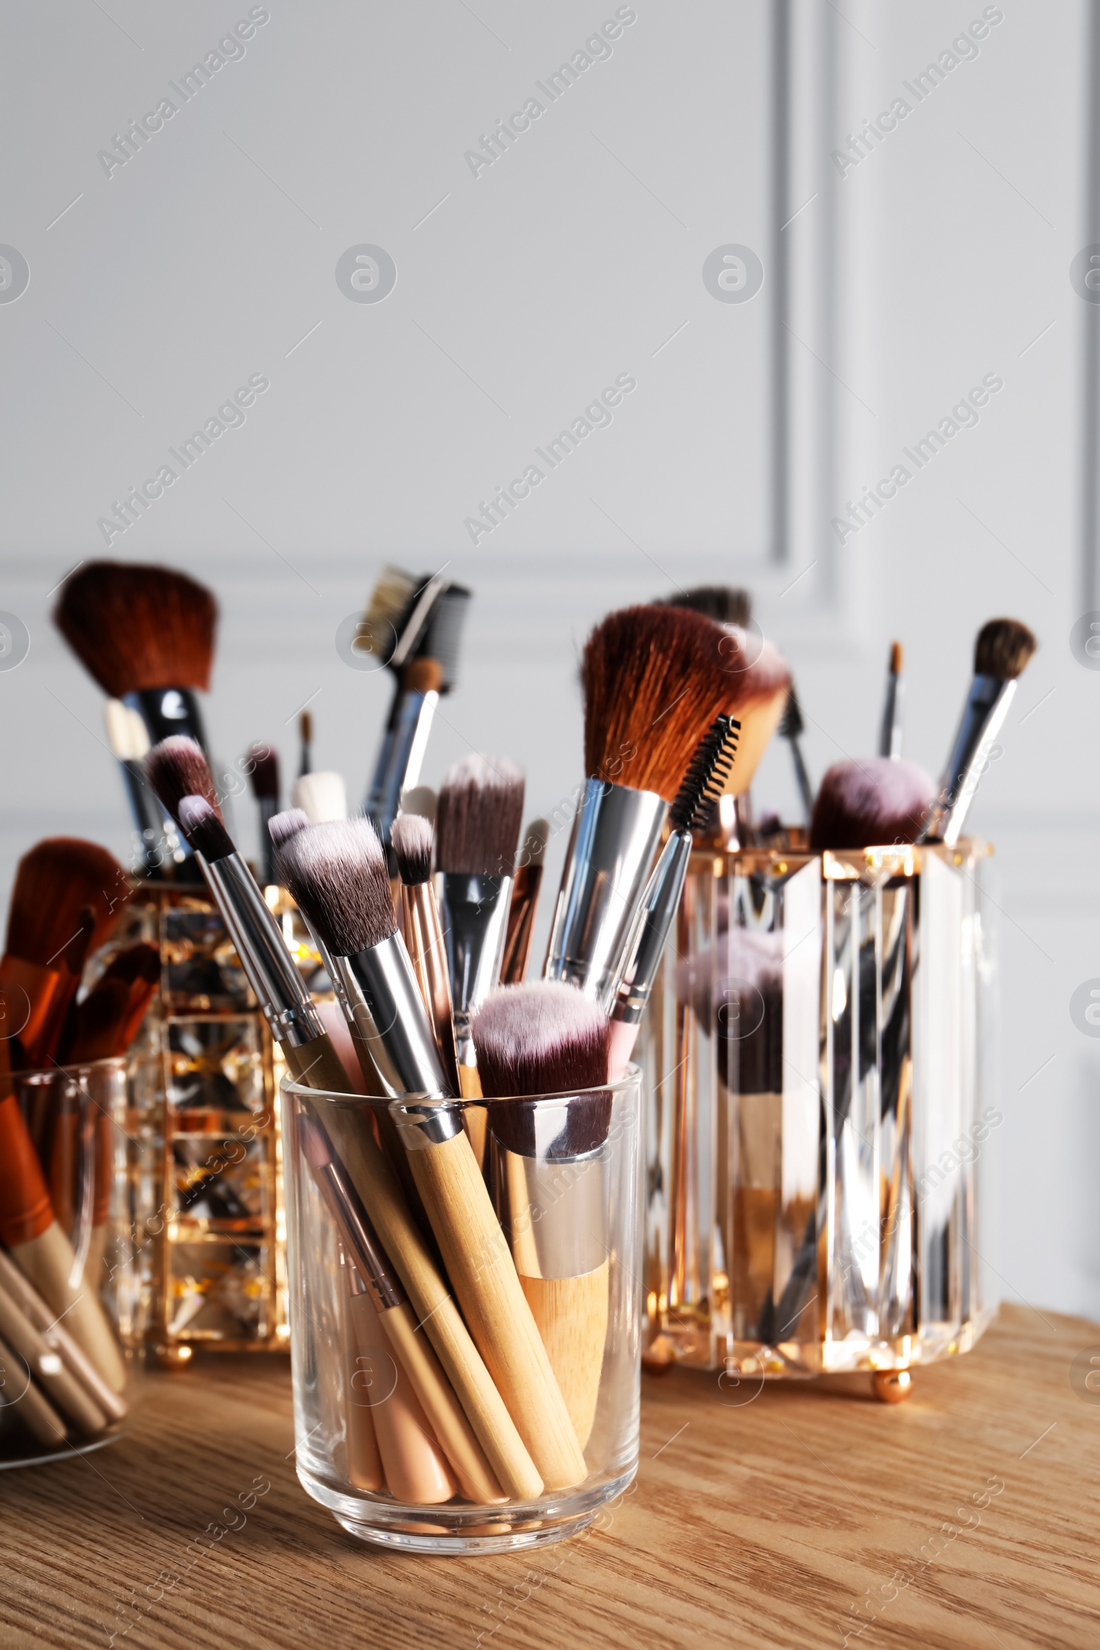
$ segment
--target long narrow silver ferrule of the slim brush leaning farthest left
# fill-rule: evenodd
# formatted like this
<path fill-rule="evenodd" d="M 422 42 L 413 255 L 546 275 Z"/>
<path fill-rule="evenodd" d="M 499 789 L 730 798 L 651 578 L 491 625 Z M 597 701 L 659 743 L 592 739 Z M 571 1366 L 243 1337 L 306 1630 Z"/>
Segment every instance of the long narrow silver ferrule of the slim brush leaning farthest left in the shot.
<path fill-rule="evenodd" d="M 325 1028 L 247 865 L 239 853 L 213 863 L 201 853 L 195 858 L 221 911 L 270 1035 L 289 1048 L 313 1043 Z"/>

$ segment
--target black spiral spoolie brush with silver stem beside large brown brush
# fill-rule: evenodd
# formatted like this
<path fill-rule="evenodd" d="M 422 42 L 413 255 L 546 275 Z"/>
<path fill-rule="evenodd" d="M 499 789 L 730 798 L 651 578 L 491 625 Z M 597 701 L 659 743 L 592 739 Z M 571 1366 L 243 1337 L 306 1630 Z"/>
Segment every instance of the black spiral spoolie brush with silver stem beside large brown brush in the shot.
<path fill-rule="evenodd" d="M 661 962 L 668 931 L 679 908 L 688 861 L 691 860 L 693 832 L 699 830 L 707 812 L 729 785 L 729 774 L 737 754 L 740 723 L 732 716 L 716 716 L 706 736 L 691 757 L 684 780 L 676 792 L 668 823 L 671 833 L 653 868 L 642 898 L 642 909 L 630 947 L 630 964 L 618 987 L 612 1008 L 610 1061 L 612 1082 L 627 1069 L 645 1005 L 650 1000 L 656 970 Z"/>

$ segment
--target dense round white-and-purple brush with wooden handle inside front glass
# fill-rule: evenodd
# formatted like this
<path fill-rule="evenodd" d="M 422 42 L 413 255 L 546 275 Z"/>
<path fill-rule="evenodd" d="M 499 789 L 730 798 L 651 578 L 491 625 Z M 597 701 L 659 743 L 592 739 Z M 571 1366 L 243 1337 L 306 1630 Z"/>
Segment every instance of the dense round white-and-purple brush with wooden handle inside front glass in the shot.
<path fill-rule="evenodd" d="M 473 1040 L 490 1101 L 490 1183 L 584 1449 L 607 1338 L 610 1026 L 574 985 L 538 980 L 495 992 L 473 1021 Z M 524 1106 L 521 1096 L 557 1102 Z"/>

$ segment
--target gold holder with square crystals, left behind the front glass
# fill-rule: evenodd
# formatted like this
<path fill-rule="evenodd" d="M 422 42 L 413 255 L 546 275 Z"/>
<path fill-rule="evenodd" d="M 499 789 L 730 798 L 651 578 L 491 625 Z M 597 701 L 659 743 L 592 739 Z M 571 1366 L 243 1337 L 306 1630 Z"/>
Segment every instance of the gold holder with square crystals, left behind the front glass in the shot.
<path fill-rule="evenodd" d="M 277 888 L 266 899 L 317 980 L 294 904 Z M 135 883 L 102 960 L 139 940 L 160 950 L 160 988 L 129 1054 L 127 1221 L 107 1257 L 134 1269 L 130 1345 L 165 1366 L 287 1351 L 282 1054 L 200 889 Z"/>

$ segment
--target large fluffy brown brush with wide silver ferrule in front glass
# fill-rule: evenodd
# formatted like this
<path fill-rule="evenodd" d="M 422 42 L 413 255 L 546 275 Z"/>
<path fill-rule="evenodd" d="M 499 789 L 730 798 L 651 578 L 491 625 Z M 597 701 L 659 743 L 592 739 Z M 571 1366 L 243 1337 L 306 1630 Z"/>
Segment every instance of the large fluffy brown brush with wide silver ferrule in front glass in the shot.
<path fill-rule="evenodd" d="M 668 804 L 716 716 L 731 711 L 727 632 L 679 607 L 625 607 L 582 660 L 584 762 L 544 974 L 609 1008 Z"/>

